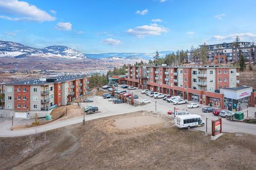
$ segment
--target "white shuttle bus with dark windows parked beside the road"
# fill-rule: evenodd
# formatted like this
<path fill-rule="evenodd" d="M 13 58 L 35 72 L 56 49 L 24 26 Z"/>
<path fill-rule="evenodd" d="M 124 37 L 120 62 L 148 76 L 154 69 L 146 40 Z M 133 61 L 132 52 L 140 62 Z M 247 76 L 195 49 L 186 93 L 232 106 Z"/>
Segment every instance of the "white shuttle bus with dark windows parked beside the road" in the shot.
<path fill-rule="evenodd" d="M 204 126 L 204 124 L 204 120 L 197 114 L 184 114 L 175 117 L 175 126 L 179 128 L 190 129 L 191 127 Z"/>

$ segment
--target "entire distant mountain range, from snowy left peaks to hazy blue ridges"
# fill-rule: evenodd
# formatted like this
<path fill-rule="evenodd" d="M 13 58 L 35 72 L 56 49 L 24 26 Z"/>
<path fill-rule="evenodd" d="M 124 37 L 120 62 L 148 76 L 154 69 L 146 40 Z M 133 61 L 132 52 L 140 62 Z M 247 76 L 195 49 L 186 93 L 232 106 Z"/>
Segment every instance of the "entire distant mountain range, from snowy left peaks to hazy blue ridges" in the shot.
<path fill-rule="evenodd" d="M 173 51 L 159 52 L 160 57 Z M 35 48 L 24 44 L 0 41 L 0 57 L 28 58 L 31 56 L 42 58 L 62 58 L 62 59 L 102 59 L 102 60 L 149 60 L 153 59 L 155 53 L 102 53 L 83 54 L 68 46 L 53 45 L 45 48 Z"/>

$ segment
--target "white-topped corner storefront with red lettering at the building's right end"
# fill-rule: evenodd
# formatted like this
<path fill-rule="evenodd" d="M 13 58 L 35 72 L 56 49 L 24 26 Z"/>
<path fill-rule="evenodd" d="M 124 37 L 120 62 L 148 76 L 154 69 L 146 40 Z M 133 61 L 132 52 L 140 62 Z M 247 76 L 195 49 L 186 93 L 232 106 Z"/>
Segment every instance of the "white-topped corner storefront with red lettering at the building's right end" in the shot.
<path fill-rule="evenodd" d="M 221 89 L 224 93 L 224 107 L 231 111 L 241 111 L 251 106 L 252 87 Z"/>

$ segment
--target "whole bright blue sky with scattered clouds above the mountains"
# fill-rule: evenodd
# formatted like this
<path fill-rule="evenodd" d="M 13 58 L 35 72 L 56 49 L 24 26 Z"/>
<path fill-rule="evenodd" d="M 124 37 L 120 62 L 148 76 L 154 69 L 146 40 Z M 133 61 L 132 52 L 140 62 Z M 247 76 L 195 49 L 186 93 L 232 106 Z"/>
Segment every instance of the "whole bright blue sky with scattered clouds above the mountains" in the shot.
<path fill-rule="evenodd" d="M 256 41 L 255 0 L 0 0 L 0 40 L 83 53 Z"/>

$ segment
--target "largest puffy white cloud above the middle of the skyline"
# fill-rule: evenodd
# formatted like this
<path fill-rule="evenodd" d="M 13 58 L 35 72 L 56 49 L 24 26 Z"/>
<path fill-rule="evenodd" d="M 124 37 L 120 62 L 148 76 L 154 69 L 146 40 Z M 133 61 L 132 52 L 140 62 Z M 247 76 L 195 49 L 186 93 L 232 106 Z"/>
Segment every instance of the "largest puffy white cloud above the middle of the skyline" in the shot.
<path fill-rule="evenodd" d="M 158 26 L 156 23 L 151 26 L 144 25 L 139 26 L 134 29 L 129 29 L 126 31 L 128 34 L 132 36 L 136 36 L 138 38 L 144 38 L 148 35 L 161 35 L 162 33 L 167 33 L 169 30 L 167 28 Z"/>

